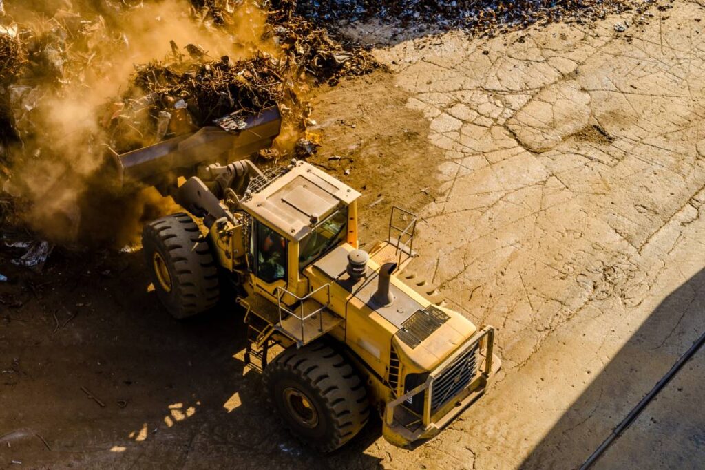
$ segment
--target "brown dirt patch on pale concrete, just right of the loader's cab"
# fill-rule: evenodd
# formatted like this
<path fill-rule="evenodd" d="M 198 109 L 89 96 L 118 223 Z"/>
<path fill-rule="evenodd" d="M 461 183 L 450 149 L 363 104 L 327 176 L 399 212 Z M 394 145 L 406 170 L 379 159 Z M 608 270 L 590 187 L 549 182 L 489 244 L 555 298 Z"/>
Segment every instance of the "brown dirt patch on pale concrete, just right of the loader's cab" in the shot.
<path fill-rule="evenodd" d="M 312 99 L 316 125 L 309 129 L 323 146 L 309 163 L 362 193 L 363 249 L 388 237 L 391 206 L 418 212 L 439 196 L 441 150 L 429 142 L 423 114 L 405 108 L 410 97 L 395 75 L 377 72 Z"/>

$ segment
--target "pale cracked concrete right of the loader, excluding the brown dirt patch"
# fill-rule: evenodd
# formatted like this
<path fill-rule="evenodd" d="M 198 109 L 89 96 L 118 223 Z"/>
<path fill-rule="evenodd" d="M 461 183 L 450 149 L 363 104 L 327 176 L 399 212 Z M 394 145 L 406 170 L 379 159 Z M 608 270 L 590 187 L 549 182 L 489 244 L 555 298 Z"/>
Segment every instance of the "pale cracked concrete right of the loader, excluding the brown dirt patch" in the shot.
<path fill-rule="evenodd" d="M 705 330 L 692 308 L 705 240 L 705 10 L 672 5 L 379 53 L 443 150 L 415 268 L 498 328 L 504 361 L 482 404 L 418 464 L 578 466 Z M 639 454 L 642 468 L 701 468 L 696 383 L 675 407 L 691 426 L 651 450 L 628 441 L 674 427 L 636 426 L 611 454 L 620 459 L 601 465 Z"/>

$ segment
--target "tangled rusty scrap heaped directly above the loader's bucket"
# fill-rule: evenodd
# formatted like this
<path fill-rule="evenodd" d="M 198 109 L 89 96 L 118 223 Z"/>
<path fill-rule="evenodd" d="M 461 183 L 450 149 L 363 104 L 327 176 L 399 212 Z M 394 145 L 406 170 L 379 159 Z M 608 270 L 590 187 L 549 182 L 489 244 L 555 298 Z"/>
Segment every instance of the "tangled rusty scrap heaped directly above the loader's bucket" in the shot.
<path fill-rule="evenodd" d="M 295 102 L 280 75 L 281 62 L 271 56 L 204 62 L 195 45 L 187 49 L 190 60 L 137 67 L 127 98 L 111 109 L 110 147 L 116 153 L 195 131 L 233 112 L 244 115 Z M 174 50 L 179 54 L 176 45 Z"/>

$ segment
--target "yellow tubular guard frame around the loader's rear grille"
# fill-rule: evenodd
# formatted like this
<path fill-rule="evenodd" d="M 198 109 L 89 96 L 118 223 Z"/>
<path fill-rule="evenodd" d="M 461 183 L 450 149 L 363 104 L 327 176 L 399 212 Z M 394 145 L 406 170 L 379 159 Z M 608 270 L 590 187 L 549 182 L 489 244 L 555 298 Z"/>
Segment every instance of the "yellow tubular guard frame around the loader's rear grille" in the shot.
<path fill-rule="evenodd" d="M 492 352 L 494 350 L 494 328 L 491 326 L 486 326 L 482 330 L 475 333 L 470 340 L 467 340 L 463 347 L 458 348 L 458 351 L 450 355 L 450 357 L 443 361 L 440 366 L 436 367 L 435 371 L 429 373 L 429 376 L 424 383 L 410 390 L 405 395 L 398 397 L 396 400 L 389 402 L 384 409 L 384 422 L 388 426 L 392 426 L 395 421 L 395 412 L 398 411 L 398 408 L 403 408 L 407 414 L 417 416 L 417 419 L 406 422 L 406 427 L 422 424 L 424 428 L 428 428 L 429 425 L 435 421 L 434 419 L 440 418 L 446 414 L 448 412 L 448 406 L 453 404 L 454 400 L 448 400 L 446 404 L 441 405 L 433 413 L 431 412 L 431 397 L 433 396 L 434 381 L 439 378 L 439 376 L 441 376 L 446 369 L 453 366 L 456 359 L 477 346 L 479 346 L 478 353 L 480 357 L 484 357 L 484 370 L 479 372 L 479 374 L 476 373 L 474 378 L 470 381 L 470 384 L 464 390 L 477 388 L 481 385 L 478 381 L 479 378 L 486 381 L 492 371 Z M 411 402 L 412 398 L 420 393 L 424 394 L 424 411 L 421 415 L 405 406 L 405 402 Z"/>

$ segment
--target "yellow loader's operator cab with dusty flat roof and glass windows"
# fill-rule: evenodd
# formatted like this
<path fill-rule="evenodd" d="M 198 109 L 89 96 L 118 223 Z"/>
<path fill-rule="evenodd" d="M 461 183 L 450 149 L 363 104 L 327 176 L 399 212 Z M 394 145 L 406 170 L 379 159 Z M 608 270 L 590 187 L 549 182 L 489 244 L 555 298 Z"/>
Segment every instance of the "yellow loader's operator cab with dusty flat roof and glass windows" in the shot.
<path fill-rule="evenodd" d="M 309 286 L 301 272 L 306 266 L 343 242 L 357 247 L 358 197 L 353 188 L 303 161 L 254 178 L 240 201 L 253 218 L 253 290 L 275 301 L 280 289 L 305 295 Z"/>

